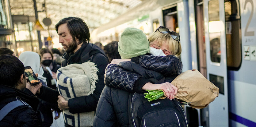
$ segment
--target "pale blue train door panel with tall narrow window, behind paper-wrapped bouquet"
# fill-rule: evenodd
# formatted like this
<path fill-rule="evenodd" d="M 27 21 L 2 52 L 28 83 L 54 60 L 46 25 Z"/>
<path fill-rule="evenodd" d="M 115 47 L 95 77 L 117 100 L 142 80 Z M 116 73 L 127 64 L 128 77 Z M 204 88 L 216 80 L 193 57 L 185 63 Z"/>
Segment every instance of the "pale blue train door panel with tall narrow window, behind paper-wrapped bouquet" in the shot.
<path fill-rule="evenodd" d="M 219 97 L 208 105 L 210 127 L 228 126 L 227 55 L 224 0 L 204 1 L 206 65 L 208 80 Z"/>

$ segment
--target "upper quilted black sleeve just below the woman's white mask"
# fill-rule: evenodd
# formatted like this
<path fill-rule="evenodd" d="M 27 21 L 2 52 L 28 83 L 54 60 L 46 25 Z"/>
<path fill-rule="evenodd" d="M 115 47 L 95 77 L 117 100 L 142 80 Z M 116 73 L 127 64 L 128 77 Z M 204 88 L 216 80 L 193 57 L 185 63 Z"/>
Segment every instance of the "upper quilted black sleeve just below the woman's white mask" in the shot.
<path fill-rule="evenodd" d="M 145 69 L 153 70 L 164 76 L 179 75 L 182 72 L 182 62 L 174 55 L 153 56 L 141 55 L 139 65 Z"/>

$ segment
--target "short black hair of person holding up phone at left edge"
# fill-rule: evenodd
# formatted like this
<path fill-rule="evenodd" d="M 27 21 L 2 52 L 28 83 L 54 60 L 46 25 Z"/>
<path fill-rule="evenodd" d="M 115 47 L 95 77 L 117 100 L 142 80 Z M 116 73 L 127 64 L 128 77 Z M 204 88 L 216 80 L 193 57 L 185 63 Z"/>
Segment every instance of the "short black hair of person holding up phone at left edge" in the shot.
<path fill-rule="evenodd" d="M 0 55 L 0 84 L 16 86 L 25 68 L 23 63 L 13 55 Z"/>

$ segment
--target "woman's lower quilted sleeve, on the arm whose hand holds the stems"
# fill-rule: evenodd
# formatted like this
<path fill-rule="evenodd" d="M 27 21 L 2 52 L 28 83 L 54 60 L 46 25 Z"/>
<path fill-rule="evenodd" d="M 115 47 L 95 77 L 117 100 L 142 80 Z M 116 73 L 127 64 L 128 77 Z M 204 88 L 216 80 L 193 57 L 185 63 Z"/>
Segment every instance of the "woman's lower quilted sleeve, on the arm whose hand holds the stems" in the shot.
<path fill-rule="evenodd" d="M 135 72 L 122 69 L 119 65 L 111 64 L 106 67 L 104 77 L 105 85 L 128 92 L 133 92 L 134 83 L 142 76 L 136 74 Z"/>

